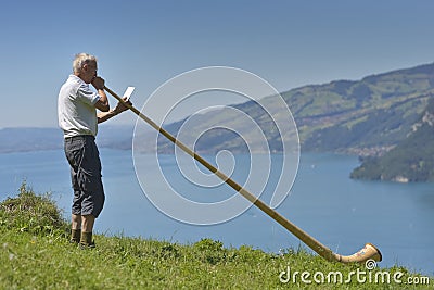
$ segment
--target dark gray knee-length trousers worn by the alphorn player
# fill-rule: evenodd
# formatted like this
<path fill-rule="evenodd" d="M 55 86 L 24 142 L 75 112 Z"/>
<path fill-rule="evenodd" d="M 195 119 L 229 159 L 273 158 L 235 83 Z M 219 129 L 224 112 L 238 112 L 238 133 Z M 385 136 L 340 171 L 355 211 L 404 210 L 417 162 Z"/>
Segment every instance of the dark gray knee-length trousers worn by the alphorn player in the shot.
<path fill-rule="evenodd" d="M 100 153 L 93 136 L 65 139 L 65 155 L 71 165 L 74 189 L 72 213 L 98 217 L 104 205 Z"/>

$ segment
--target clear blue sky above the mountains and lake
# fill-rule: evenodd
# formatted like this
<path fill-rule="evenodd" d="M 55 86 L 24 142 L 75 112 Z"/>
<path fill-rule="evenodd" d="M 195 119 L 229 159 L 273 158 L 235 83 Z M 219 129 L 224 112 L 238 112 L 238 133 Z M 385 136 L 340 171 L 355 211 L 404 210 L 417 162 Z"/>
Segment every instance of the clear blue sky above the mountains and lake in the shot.
<path fill-rule="evenodd" d="M 138 108 L 169 78 L 209 65 L 285 91 L 432 63 L 433 12 L 429 0 L 9 1 L 0 11 L 0 127 L 55 127 L 58 92 L 78 52 L 99 58 L 112 89 L 136 86 Z"/>

